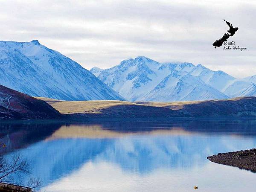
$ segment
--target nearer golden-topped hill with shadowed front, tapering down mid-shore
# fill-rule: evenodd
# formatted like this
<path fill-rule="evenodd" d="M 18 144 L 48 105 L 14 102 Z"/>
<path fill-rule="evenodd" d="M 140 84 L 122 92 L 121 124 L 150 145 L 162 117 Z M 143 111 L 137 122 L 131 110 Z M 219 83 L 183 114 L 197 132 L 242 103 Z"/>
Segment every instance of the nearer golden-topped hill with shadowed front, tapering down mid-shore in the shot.
<path fill-rule="evenodd" d="M 76 117 L 150 118 L 180 116 L 180 113 L 169 108 L 126 101 L 61 101 L 41 97 L 37 97 L 37 99 L 46 101 L 62 114 Z"/>

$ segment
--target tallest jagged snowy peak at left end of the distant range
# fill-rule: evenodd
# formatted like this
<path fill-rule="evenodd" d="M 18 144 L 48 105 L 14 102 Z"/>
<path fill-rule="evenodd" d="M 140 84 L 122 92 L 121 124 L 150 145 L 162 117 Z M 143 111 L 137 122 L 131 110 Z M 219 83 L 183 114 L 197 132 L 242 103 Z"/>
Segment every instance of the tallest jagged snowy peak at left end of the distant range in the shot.
<path fill-rule="evenodd" d="M 125 99 L 135 101 L 152 90 L 162 80 L 161 74 L 156 73 L 161 64 L 145 57 L 127 59 L 119 65 L 103 70 L 98 76 L 105 84 L 116 90 Z"/>

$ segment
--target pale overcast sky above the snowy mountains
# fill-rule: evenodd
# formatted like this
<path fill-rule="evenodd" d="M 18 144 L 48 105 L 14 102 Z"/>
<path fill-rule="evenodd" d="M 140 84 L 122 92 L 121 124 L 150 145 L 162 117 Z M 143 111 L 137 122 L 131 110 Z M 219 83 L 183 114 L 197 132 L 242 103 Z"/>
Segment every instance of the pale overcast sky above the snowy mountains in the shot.
<path fill-rule="evenodd" d="M 110 68 L 126 58 L 191 62 L 237 78 L 256 75 L 253 0 L 0 0 L 0 40 L 32 41 L 84 68 Z M 212 46 L 229 38 L 247 50 Z"/>

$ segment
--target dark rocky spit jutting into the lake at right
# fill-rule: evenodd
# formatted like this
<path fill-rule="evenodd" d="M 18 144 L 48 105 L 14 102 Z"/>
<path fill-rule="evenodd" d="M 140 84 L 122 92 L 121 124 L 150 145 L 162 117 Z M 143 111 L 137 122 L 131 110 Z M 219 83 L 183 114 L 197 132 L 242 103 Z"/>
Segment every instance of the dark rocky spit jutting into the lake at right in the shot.
<path fill-rule="evenodd" d="M 234 166 L 239 169 L 246 169 L 256 173 L 256 148 L 244 151 L 219 153 L 209 156 L 207 159 L 214 163 Z"/>

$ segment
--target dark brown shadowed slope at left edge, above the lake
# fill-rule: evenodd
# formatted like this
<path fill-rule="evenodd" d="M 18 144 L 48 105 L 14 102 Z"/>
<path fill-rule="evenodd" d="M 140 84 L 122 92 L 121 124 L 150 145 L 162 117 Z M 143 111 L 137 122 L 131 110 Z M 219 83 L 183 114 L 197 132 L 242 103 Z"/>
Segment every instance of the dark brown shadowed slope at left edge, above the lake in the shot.
<path fill-rule="evenodd" d="M 0 119 L 56 119 L 61 114 L 46 102 L 0 85 Z"/>

